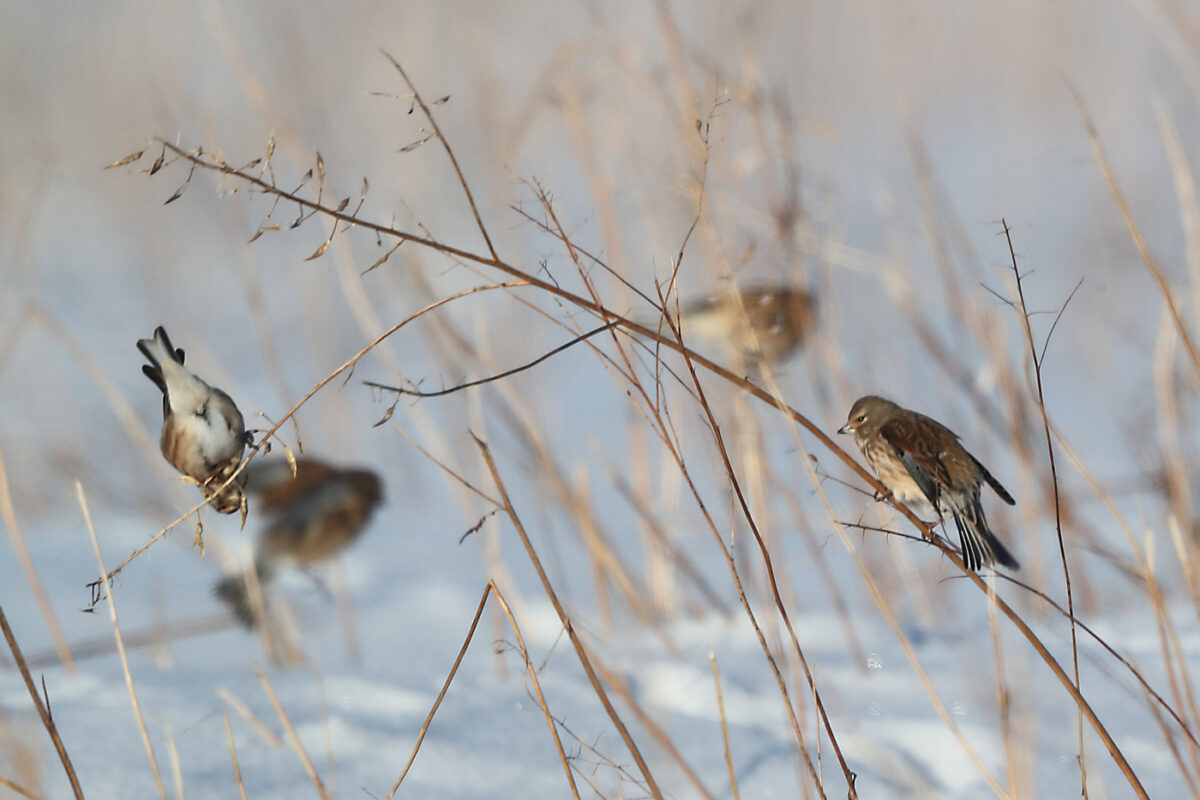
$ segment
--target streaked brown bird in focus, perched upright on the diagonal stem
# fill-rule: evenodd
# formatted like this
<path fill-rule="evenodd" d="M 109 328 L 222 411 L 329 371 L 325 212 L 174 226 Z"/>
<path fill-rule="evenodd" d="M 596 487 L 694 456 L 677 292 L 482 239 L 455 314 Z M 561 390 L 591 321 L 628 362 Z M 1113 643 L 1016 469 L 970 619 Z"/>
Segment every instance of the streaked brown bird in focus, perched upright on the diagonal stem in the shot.
<path fill-rule="evenodd" d="M 959 444 L 958 435 L 924 414 L 868 395 L 854 401 L 838 433 L 854 434 L 866 463 L 883 483 L 922 517 L 954 517 L 968 570 L 1000 564 L 1016 570 L 1016 559 L 988 528 L 979 503 L 984 481 L 1008 505 L 1013 495 Z"/>

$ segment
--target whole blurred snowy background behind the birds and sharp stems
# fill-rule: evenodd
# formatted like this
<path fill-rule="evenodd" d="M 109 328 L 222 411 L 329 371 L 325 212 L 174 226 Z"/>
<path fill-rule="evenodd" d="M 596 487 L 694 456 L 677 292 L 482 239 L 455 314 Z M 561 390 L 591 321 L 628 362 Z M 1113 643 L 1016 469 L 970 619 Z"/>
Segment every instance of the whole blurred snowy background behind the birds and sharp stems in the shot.
<path fill-rule="evenodd" d="M 379 49 L 428 101 L 446 98 L 433 110 L 500 258 L 570 291 L 584 287 L 563 243 L 522 216 L 545 219 L 532 181 L 577 246 L 653 294 L 696 217 L 703 174 L 680 295 L 715 291 L 730 275 L 812 288 L 821 327 L 776 371 L 786 403 L 830 435 L 866 392 L 944 421 L 1018 498 L 1013 510 L 985 499 L 1022 561 L 1016 577 L 1063 604 L 1028 345 L 1019 317 L 989 291 L 1013 296 L 1000 219 L 1013 229 L 1039 347 L 1082 278 L 1046 350 L 1046 409 L 1060 434 L 1078 616 L 1136 673 L 1080 632 L 1081 692 L 1148 796 L 1200 794 L 1200 745 L 1136 679 L 1195 730 L 1189 668 L 1200 626 L 1184 565 L 1196 549 L 1200 375 L 1073 96 L 1094 120 L 1183 327 L 1196 331 L 1189 180 L 1200 53 L 1187 34 L 1196 13 L 1116 2 L 10 4 L 0 30 L 0 458 L 12 515 L 0 497 L 11 542 L 0 548 L 0 608 L 44 678 L 85 795 L 160 790 L 108 606 L 91 606 L 98 567 L 76 481 L 109 569 L 198 500 L 157 453 L 157 392 L 134 342 L 166 325 L 188 365 L 265 429 L 391 325 L 505 279 L 416 243 L 365 272 L 391 243 L 364 230 L 338 229 L 320 258 L 305 260 L 329 235 L 326 219 L 288 230 L 299 211 L 282 203 L 271 222 L 283 230 L 247 243 L 271 204 L 236 180 L 198 170 L 163 207 L 185 164 L 138 172 L 160 152 L 151 148 L 137 163 L 101 168 L 152 136 L 241 164 L 274 134 L 281 187 L 300 184 L 319 150 L 330 205 L 349 197 L 353 209 L 365 176 L 364 219 L 486 253 L 445 152 L 420 112 L 409 113 Z M 588 264 L 588 275 L 611 308 L 650 312 L 605 270 Z M 384 507 L 336 565 L 316 581 L 283 577 L 290 663 L 211 594 L 222 571 L 248 558 L 253 509 L 245 530 L 202 511 L 203 555 L 193 516 L 122 570 L 113 599 L 166 794 L 239 796 L 227 715 L 246 796 L 319 796 L 260 670 L 324 790 L 385 796 L 491 578 L 581 796 L 654 795 L 510 519 L 416 446 L 496 497 L 474 434 L 666 796 L 733 796 L 731 771 L 742 798 L 820 796 L 818 782 L 827 796 L 846 796 L 762 554 L 680 384 L 662 381 L 671 435 L 703 511 L 732 542 L 820 781 L 701 504 L 647 405 L 586 347 L 503 383 L 402 401 L 374 425 L 392 397 L 364 380 L 437 390 L 484 378 L 568 341 L 553 321 L 568 319 L 593 325 L 528 287 L 456 300 L 331 381 L 298 411 L 299 427 L 280 429 L 293 447 L 377 470 L 386 487 Z M 593 341 L 618 357 L 611 339 Z M 649 356 L 629 351 L 653 386 Z M 685 375 L 674 356 L 665 362 Z M 853 528 L 840 535 L 835 521 L 914 530 L 776 409 L 703 371 L 701 380 L 860 796 L 1076 796 L 1078 705 L 1028 640 L 990 619 L 986 595 L 934 548 Z M 655 530 L 686 565 L 664 557 Z M 18 539 L 74 651 L 73 672 L 54 655 Z M 1063 616 L 1014 584 L 996 587 L 1072 674 Z M 1138 796 L 1082 724 L 1088 796 Z M 71 796 L 7 648 L 0 778 L 32 796 Z M 20 795 L 0 782 L 5 796 Z M 494 595 L 397 796 L 570 796 Z"/>

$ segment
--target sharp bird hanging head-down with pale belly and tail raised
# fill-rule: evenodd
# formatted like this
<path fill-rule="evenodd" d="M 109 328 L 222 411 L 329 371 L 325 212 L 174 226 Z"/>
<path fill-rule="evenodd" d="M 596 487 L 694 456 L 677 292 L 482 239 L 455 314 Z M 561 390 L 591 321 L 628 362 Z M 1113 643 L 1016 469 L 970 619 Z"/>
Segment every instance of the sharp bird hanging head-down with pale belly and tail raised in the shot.
<path fill-rule="evenodd" d="M 253 437 L 246 432 L 241 411 L 233 399 L 184 368 L 184 351 L 176 349 L 160 325 L 154 338 L 138 339 L 138 349 L 150 360 L 142 372 L 162 392 L 162 441 L 167 462 L 200 486 L 220 513 L 242 507 L 236 482 L 218 491 L 241 462 Z"/>

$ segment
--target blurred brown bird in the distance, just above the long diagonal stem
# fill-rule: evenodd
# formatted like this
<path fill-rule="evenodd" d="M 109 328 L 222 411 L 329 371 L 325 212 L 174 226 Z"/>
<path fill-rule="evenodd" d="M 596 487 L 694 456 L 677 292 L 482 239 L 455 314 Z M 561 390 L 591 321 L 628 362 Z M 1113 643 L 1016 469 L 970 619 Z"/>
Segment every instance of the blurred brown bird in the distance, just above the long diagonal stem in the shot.
<path fill-rule="evenodd" d="M 744 363 L 780 363 L 816 324 L 816 299 L 799 287 L 746 287 L 680 312 L 684 342 L 694 338 Z"/>

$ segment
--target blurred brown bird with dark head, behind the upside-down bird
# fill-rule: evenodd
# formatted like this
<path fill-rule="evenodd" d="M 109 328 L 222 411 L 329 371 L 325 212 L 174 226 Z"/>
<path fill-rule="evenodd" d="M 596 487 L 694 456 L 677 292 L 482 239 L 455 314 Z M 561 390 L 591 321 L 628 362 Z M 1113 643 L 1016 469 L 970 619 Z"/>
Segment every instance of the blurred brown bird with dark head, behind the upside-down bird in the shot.
<path fill-rule="evenodd" d="M 266 517 L 254 547 L 254 573 L 268 584 L 286 566 L 308 567 L 348 547 L 383 500 L 383 482 L 367 469 L 338 469 L 316 458 L 252 461 L 246 491 Z M 215 593 L 247 626 L 254 622 L 245 578 L 227 576 Z"/>

